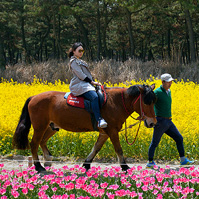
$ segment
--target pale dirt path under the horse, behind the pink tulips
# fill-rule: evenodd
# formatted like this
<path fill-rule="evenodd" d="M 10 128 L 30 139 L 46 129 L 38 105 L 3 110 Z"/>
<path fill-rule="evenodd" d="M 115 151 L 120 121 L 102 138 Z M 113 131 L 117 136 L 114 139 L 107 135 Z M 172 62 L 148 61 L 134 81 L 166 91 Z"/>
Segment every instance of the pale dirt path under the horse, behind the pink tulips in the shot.
<path fill-rule="evenodd" d="M 39 157 L 40 162 L 43 165 L 43 158 L 42 156 Z M 60 157 L 60 158 L 55 158 L 56 161 L 52 161 L 52 166 L 56 169 L 62 168 L 63 166 L 68 166 L 68 167 L 74 167 L 74 165 L 80 165 L 82 166 L 84 160 L 68 160 L 65 157 Z M 4 169 L 6 170 L 16 170 L 16 169 L 25 169 L 30 165 L 29 163 L 30 158 L 28 156 L 21 156 L 21 155 L 15 155 L 15 156 L 0 156 L 0 164 L 4 164 Z M 146 168 L 146 161 L 141 161 L 141 160 L 133 160 L 133 159 L 127 159 L 127 164 L 130 167 L 133 166 L 142 166 L 143 169 Z M 156 161 L 156 164 L 160 166 L 161 168 L 165 168 L 166 165 L 169 165 L 171 169 L 178 169 L 179 168 L 179 162 L 177 161 L 172 161 L 172 162 L 163 162 L 163 161 Z M 199 162 L 195 161 L 195 167 L 199 169 Z M 117 161 L 109 161 L 105 162 L 102 160 L 96 160 L 94 161 L 91 166 L 100 166 L 102 169 L 108 167 L 111 168 L 112 166 L 119 166 L 119 163 Z"/>

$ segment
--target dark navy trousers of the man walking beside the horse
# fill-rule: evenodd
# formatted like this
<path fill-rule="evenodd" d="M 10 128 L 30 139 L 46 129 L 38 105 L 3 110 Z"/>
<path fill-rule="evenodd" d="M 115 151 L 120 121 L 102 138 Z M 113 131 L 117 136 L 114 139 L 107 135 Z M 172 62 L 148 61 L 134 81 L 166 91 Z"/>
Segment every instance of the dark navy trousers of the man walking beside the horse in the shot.
<path fill-rule="evenodd" d="M 148 151 L 149 161 L 153 160 L 155 149 L 158 146 L 160 139 L 164 133 L 166 133 L 176 142 L 180 157 L 184 157 L 183 137 L 174 123 L 170 119 L 157 117 L 157 124 L 154 127 L 153 139 Z"/>

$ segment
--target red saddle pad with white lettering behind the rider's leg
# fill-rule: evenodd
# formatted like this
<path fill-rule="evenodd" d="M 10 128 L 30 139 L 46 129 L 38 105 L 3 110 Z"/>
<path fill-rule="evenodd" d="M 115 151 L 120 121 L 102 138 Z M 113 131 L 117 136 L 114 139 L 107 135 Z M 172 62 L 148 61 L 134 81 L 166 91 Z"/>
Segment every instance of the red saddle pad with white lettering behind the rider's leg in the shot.
<path fill-rule="evenodd" d="M 68 94 L 68 95 L 67 95 Z M 76 97 L 72 93 L 67 93 L 64 98 L 67 99 L 67 104 L 71 106 L 75 106 L 78 108 L 85 108 L 84 105 L 84 98 L 83 97 Z"/>

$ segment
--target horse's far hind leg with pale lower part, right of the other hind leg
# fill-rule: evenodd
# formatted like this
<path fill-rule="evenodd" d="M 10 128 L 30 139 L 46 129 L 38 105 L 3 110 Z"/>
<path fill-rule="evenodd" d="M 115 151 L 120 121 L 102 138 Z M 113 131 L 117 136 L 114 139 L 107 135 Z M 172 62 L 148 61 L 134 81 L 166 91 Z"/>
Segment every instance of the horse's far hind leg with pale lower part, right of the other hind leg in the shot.
<path fill-rule="evenodd" d="M 49 140 L 50 137 L 52 137 L 55 133 L 57 132 L 57 130 L 52 130 L 51 127 L 48 127 L 46 132 L 44 133 L 44 136 L 40 142 L 40 146 L 41 146 L 41 149 L 43 151 L 43 156 L 44 156 L 44 167 L 47 167 L 47 166 L 52 166 L 52 159 L 53 159 L 53 156 L 52 154 L 50 153 L 48 147 L 47 147 L 47 141 Z"/>

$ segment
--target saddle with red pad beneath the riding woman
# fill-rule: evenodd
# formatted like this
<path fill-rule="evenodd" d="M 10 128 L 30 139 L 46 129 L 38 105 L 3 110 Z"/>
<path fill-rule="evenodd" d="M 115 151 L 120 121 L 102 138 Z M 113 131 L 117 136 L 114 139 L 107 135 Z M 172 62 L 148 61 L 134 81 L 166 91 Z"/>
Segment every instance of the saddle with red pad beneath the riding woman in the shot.
<path fill-rule="evenodd" d="M 107 94 L 104 88 L 104 85 L 97 86 L 96 92 L 99 97 L 99 106 L 100 109 L 107 101 Z M 84 97 L 81 96 L 74 96 L 71 92 L 68 92 L 64 95 L 64 98 L 66 99 L 66 103 L 70 106 L 74 106 L 77 108 L 83 108 L 86 109 L 88 112 L 93 113 L 91 108 L 91 102 Z"/>

